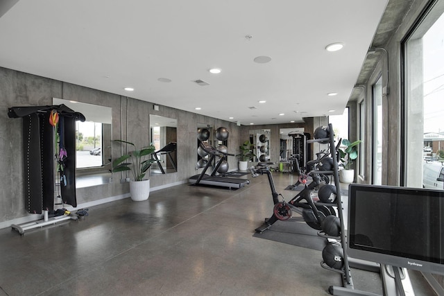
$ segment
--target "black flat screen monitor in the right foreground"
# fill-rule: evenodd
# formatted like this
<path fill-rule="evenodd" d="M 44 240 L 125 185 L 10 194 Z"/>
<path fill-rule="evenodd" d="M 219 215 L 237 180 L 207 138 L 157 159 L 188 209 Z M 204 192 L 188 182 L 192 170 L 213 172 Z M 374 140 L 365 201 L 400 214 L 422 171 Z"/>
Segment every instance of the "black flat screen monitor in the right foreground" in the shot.
<path fill-rule="evenodd" d="M 444 191 L 350 184 L 348 255 L 444 275 Z"/>

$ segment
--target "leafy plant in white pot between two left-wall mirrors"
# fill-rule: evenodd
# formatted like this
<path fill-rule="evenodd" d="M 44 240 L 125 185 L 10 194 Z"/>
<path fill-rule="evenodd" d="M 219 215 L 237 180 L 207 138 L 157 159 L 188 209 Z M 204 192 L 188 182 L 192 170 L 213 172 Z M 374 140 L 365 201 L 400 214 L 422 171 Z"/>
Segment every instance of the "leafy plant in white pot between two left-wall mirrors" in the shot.
<path fill-rule="evenodd" d="M 129 144 L 134 147 L 134 150 L 121 155 L 112 162 L 112 173 L 131 171 L 134 178 L 134 181 L 130 181 L 131 199 L 135 201 L 147 200 L 150 195 L 150 180 L 144 180 L 144 177 L 148 168 L 155 162 L 154 159 L 151 159 L 155 147 L 150 145 L 137 149 L 134 143 L 123 140 L 114 141 Z"/>

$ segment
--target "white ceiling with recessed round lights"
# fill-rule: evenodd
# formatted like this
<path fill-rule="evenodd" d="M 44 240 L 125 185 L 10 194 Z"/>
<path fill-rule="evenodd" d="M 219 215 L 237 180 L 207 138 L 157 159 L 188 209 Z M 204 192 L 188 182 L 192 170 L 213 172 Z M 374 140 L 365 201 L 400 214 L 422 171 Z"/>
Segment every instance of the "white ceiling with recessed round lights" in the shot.
<path fill-rule="evenodd" d="M 0 67 L 244 125 L 300 122 L 343 113 L 386 3 L 19 0 L 0 13 Z"/>

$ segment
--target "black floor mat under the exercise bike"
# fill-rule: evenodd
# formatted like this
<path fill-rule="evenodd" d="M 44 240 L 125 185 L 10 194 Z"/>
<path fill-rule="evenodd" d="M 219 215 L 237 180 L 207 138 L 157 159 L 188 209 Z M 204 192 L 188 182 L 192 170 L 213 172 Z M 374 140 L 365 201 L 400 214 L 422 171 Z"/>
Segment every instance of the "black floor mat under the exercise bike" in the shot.
<path fill-rule="evenodd" d="M 276 221 L 262 234 L 255 233 L 253 236 L 322 251 L 327 244 L 327 239 L 318 236 L 317 233 L 318 230 L 309 227 L 307 223 Z"/>

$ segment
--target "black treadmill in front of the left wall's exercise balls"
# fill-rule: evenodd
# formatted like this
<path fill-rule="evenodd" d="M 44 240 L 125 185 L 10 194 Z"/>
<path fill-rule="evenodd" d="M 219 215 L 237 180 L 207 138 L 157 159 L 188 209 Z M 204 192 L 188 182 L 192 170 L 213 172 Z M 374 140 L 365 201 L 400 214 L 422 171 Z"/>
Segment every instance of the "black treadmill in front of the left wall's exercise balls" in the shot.
<path fill-rule="evenodd" d="M 220 175 L 216 175 L 217 169 L 219 168 L 219 166 L 221 166 L 221 163 L 223 162 L 223 160 L 226 159 L 226 157 L 228 155 L 234 156 L 234 154 L 225 153 L 220 150 L 217 150 L 216 148 L 214 148 L 210 144 L 204 143 L 203 141 L 200 141 L 199 146 L 206 153 L 211 155 L 211 157 L 210 157 L 210 160 L 205 165 L 205 167 L 203 168 L 202 173 L 200 173 L 199 175 L 194 175 L 194 176 L 189 177 L 189 182 L 191 184 L 221 186 L 221 187 L 228 187 L 230 189 L 232 189 L 232 188 L 239 189 L 241 187 L 244 187 L 244 185 L 250 183 L 250 180 L 248 180 L 248 179 L 239 179 L 236 177 L 222 177 Z M 220 157 L 219 162 L 217 162 L 211 175 L 207 175 L 205 172 L 207 171 L 208 167 L 212 164 L 212 162 L 216 156 Z"/>

